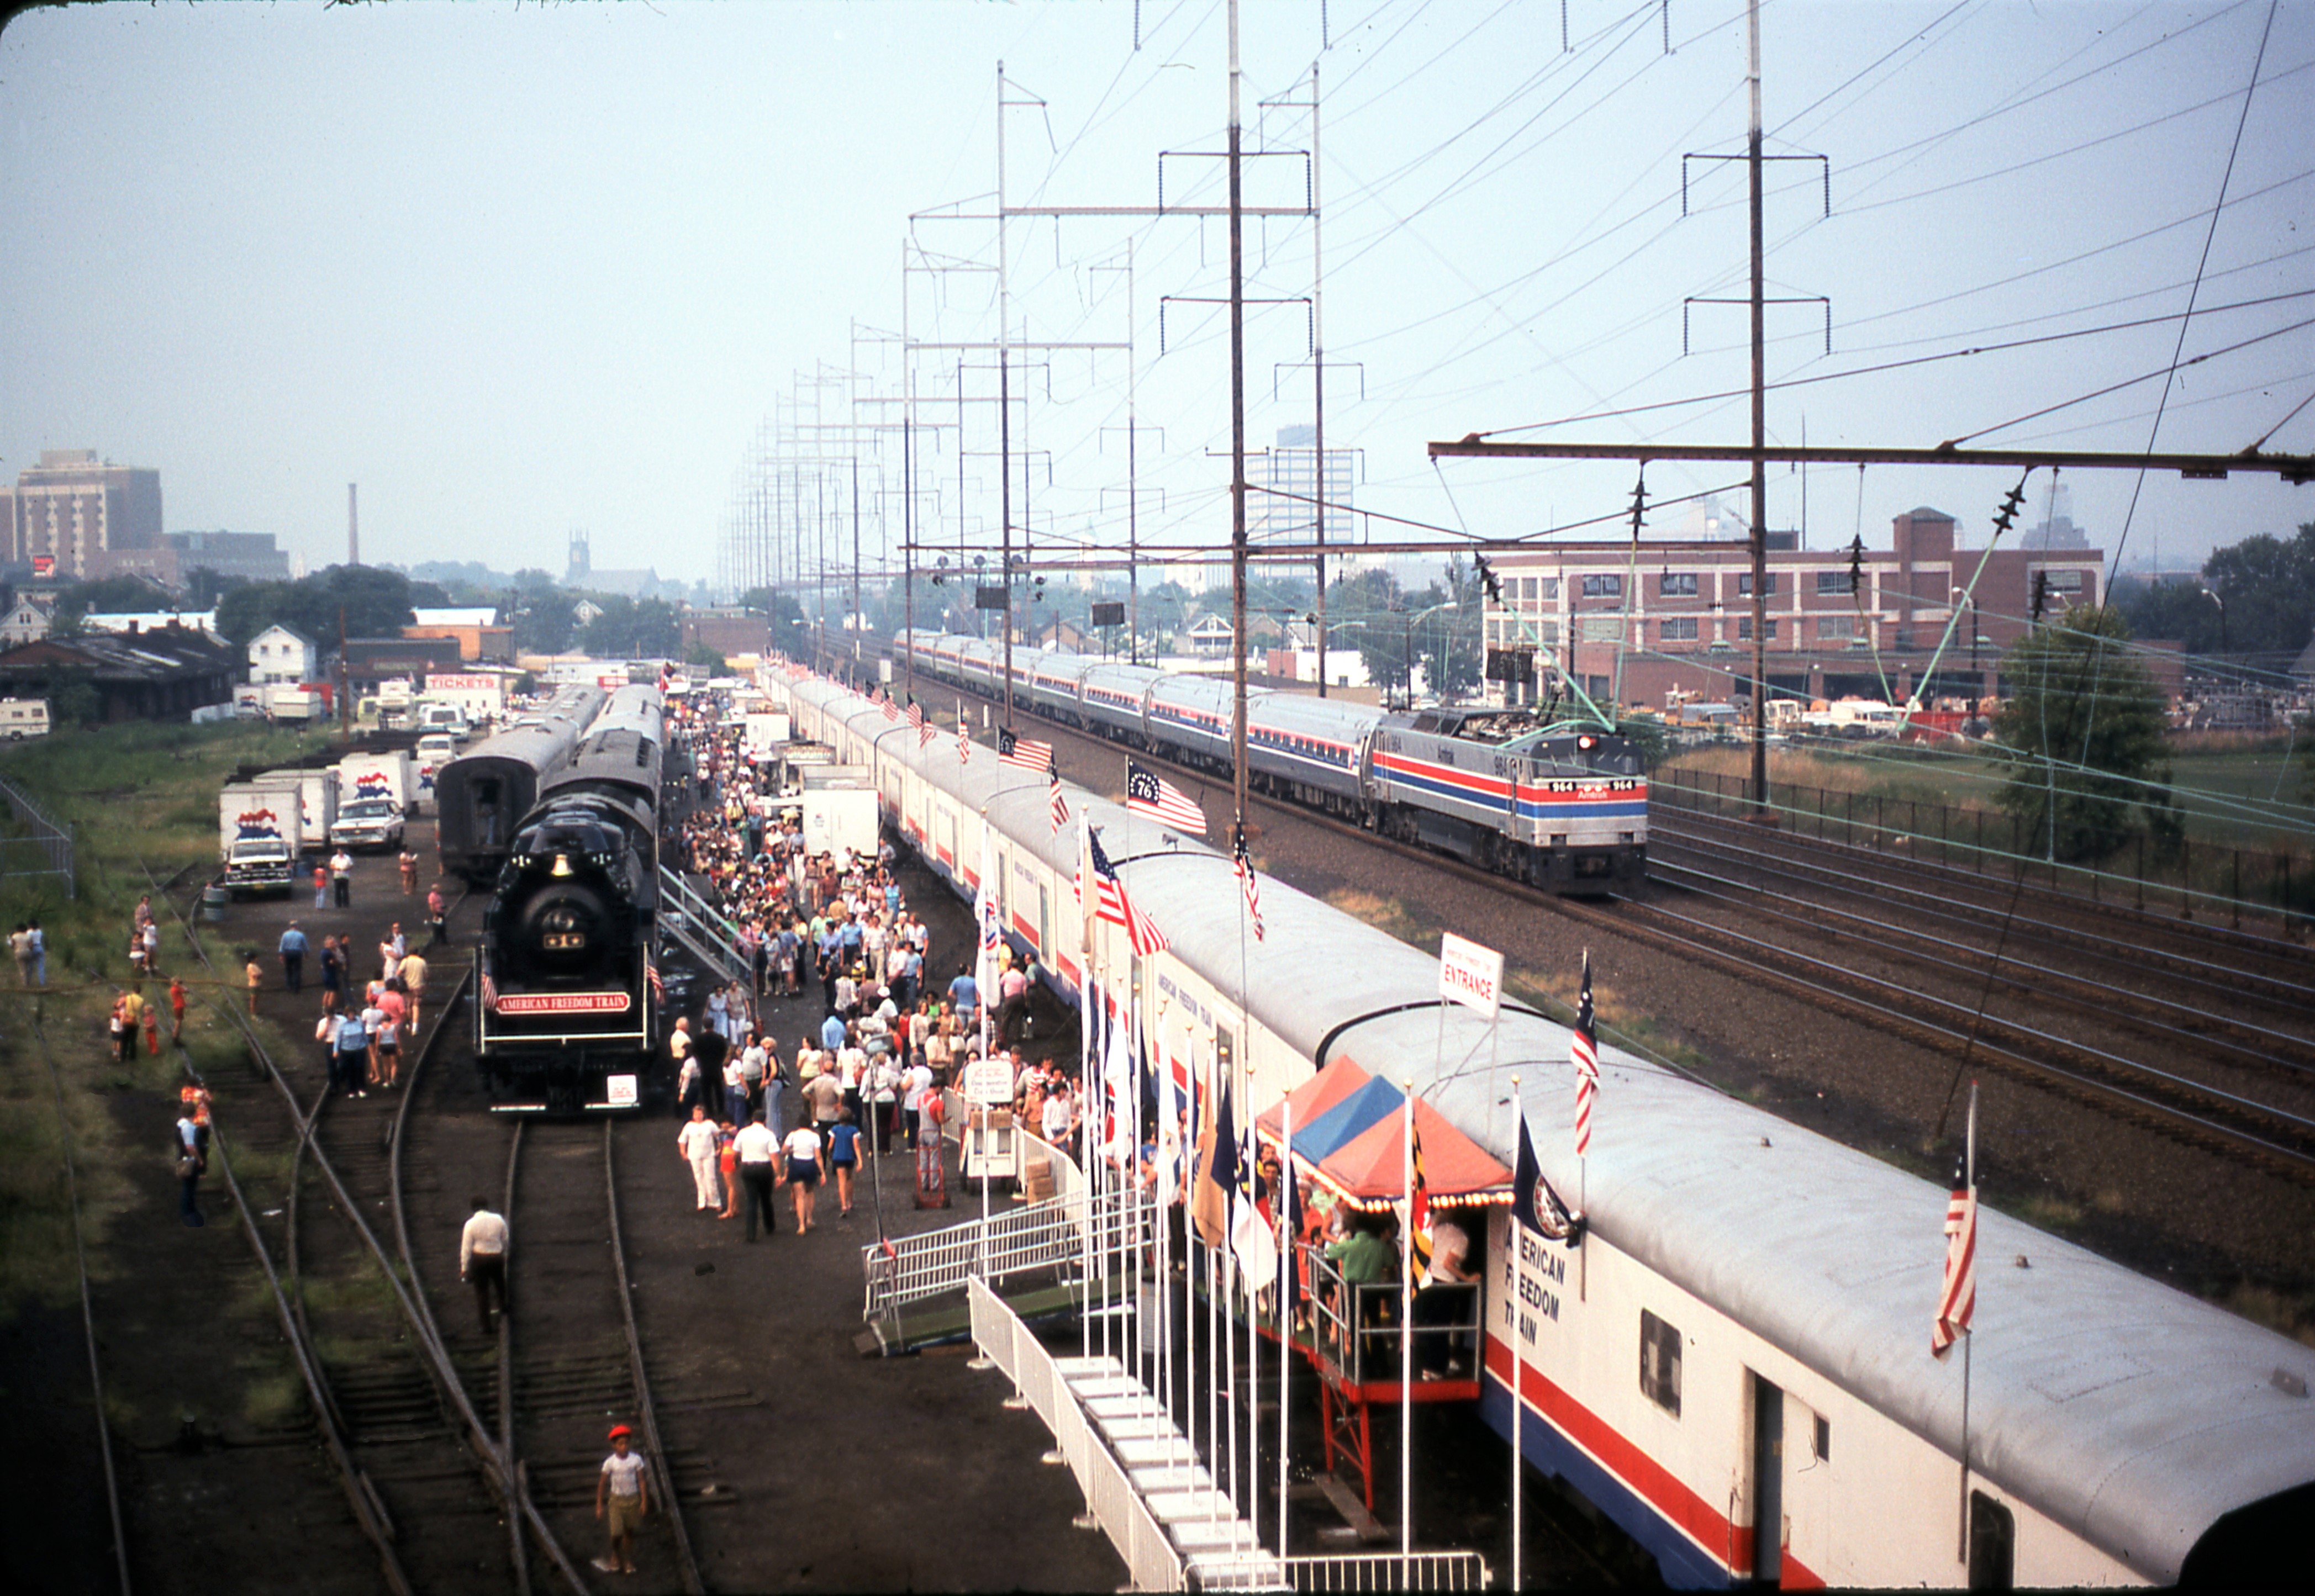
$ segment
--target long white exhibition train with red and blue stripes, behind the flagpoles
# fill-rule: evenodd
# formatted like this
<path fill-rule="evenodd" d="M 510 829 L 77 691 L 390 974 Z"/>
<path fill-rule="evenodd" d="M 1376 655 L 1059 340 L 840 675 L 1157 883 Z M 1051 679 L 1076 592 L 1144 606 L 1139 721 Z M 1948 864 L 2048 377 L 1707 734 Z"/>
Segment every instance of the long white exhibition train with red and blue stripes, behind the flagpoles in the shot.
<path fill-rule="evenodd" d="M 801 736 L 877 768 L 889 823 L 958 891 L 982 823 L 1012 941 L 1081 983 L 1074 837 L 1046 784 L 866 699 L 778 682 Z M 1245 1071 L 1255 1110 L 1354 1052 L 1491 1152 L 1526 1122 L 1579 1242 L 1484 1235 L 1482 1411 L 1681 1587 L 2084 1587 L 2306 1573 L 2315 1351 L 1991 1207 L 1968 1349 L 1931 1355 L 1947 1191 L 1600 1048 L 1574 1154 L 1570 1032 L 1440 1008 L 1438 962 L 1283 881 L 1252 939 L 1229 858 L 1067 789 L 1171 948 L 1153 1041 Z M 1097 928 L 1120 939 L 1116 928 Z M 1097 944 L 1123 969 L 1123 946 Z M 1357 981 L 1313 978 L 1357 971 Z M 1614 971 L 1602 971 L 1614 983 Z M 1509 1078 L 1519 1076 L 1516 1092 Z M 1982 1168 L 1996 1194 L 2007 1170 Z M 1514 1235 L 1526 1258 L 1509 1256 Z M 1516 1379 L 1514 1379 L 1516 1372 Z M 1970 1381 L 1963 1427 L 1963 1381 Z"/>

